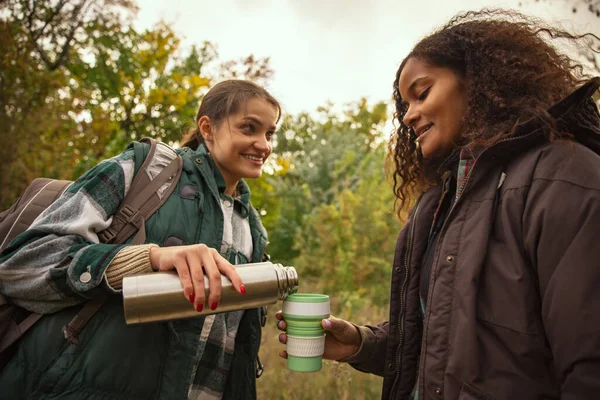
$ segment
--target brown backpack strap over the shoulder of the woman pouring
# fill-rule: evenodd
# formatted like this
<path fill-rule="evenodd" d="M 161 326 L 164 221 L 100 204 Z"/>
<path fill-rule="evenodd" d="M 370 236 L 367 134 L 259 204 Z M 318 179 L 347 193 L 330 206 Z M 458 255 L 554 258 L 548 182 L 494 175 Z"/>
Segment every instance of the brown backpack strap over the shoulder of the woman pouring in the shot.
<path fill-rule="evenodd" d="M 112 224 L 100 232 L 103 243 L 124 243 L 136 232 L 131 244 L 144 243 L 145 222 L 164 204 L 181 176 L 183 163 L 175 150 L 154 139 L 144 138 L 141 142 L 149 143 L 150 150 Z"/>

